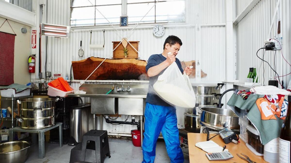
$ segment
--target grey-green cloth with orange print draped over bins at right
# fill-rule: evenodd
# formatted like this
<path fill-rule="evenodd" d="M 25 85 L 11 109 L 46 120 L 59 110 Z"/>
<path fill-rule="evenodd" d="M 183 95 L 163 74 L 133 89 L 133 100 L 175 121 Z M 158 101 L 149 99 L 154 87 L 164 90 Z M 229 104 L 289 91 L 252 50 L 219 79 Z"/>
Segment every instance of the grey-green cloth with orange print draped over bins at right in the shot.
<path fill-rule="evenodd" d="M 235 107 L 249 110 L 247 118 L 259 131 L 263 145 L 280 136 L 288 106 L 288 101 L 284 97 L 273 96 L 272 98 L 276 100 L 276 103 L 269 102 L 270 99 L 267 100 L 264 95 L 252 93 L 247 100 L 243 100 L 239 95 L 233 94 L 227 102 L 237 115 L 239 114 Z"/>

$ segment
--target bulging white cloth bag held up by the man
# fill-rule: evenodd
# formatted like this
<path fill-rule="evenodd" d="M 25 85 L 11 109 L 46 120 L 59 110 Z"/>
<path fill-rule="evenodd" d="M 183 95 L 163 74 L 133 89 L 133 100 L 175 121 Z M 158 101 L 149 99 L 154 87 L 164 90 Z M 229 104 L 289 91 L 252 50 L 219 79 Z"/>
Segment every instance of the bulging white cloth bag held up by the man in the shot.
<path fill-rule="evenodd" d="M 196 97 L 189 76 L 182 75 L 176 62 L 173 62 L 158 77 L 154 90 L 167 102 L 184 108 L 194 108 Z"/>

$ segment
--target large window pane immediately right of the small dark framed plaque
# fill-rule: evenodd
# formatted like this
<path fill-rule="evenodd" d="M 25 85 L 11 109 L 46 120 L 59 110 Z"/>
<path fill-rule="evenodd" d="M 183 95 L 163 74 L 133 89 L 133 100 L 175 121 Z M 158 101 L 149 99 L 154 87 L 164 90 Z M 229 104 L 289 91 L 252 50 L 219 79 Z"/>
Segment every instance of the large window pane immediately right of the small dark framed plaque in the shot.
<path fill-rule="evenodd" d="M 127 4 L 128 23 L 138 23 L 155 3 Z M 155 23 L 155 7 L 143 18 L 141 23 Z"/>

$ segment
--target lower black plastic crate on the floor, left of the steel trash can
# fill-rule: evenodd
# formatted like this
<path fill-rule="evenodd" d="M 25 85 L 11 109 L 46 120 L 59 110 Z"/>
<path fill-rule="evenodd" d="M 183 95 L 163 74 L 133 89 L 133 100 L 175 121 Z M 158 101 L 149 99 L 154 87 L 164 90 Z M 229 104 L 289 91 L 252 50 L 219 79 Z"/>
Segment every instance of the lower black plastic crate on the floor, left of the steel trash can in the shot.
<path fill-rule="evenodd" d="M 70 128 L 63 130 L 63 144 L 68 144 L 70 138 Z M 49 143 L 59 144 L 59 129 L 53 128 L 50 130 Z"/>

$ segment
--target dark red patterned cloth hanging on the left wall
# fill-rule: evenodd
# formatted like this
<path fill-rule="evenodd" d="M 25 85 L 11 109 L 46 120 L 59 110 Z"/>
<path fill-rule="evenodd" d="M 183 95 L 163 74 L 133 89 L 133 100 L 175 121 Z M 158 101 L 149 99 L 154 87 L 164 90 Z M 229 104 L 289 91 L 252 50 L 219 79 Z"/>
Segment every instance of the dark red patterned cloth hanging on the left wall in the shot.
<path fill-rule="evenodd" d="M 15 35 L 0 32 L 0 85 L 14 83 Z"/>

